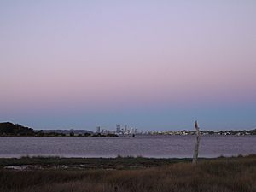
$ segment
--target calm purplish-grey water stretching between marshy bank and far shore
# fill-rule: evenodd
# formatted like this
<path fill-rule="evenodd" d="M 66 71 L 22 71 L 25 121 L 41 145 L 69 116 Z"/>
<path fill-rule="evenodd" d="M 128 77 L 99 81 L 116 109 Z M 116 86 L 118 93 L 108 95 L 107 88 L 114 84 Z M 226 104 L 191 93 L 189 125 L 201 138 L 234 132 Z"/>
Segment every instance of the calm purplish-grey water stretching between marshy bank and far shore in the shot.
<path fill-rule="evenodd" d="M 195 136 L 0 137 L 0 157 L 192 157 Z M 256 136 L 203 136 L 201 157 L 256 154 Z"/>

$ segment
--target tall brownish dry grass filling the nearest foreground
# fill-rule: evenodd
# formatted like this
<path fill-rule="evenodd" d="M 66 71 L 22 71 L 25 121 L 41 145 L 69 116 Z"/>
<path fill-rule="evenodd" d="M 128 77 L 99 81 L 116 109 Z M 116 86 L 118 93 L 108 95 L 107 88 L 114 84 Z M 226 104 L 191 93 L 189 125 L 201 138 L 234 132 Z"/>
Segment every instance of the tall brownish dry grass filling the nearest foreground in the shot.
<path fill-rule="evenodd" d="M 124 164 L 129 158 L 115 160 Z M 4 192 L 255 192 L 256 155 L 200 160 L 197 166 L 179 162 L 128 170 L 2 168 L 0 183 L 0 191 Z"/>

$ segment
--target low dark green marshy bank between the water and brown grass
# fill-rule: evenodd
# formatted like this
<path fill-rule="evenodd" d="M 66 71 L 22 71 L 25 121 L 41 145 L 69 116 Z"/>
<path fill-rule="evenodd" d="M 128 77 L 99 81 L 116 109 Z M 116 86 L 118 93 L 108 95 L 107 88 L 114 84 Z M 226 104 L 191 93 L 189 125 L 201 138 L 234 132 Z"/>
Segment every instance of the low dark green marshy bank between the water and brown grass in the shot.
<path fill-rule="evenodd" d="M 6 166 L 42 166 L 50 167 L 66 166 L 67 168 L 84 169 L 133 169 L 152 166 L 166 166 L 177 162 L 189 162 L 190 158 L 144 158 L 144 157 L 122 157 L 116 158 L 61 158 L 61 157 L 22 157 L 22 158 L 0 158 L 0 167 Z"/>

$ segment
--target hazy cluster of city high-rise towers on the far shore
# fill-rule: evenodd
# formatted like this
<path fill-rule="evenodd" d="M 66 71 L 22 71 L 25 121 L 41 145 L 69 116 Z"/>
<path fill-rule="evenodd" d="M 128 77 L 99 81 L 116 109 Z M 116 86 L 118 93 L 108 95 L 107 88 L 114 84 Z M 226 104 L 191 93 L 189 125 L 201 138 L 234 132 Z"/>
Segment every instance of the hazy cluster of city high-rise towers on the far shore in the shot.
<path fill-rule="evenodd" d="M 107 130 L 107 129 L 102 129 L 100 126 L 96 127 L 96 133 L 101 133 L 101 134 L 116 134 L 116 135 L 136 135 L 138 134 L 137 128 L 134 127 L 128 127 L 127 125 L 121 126 L 121 125 L 116 125 L 115 130 Z"/>

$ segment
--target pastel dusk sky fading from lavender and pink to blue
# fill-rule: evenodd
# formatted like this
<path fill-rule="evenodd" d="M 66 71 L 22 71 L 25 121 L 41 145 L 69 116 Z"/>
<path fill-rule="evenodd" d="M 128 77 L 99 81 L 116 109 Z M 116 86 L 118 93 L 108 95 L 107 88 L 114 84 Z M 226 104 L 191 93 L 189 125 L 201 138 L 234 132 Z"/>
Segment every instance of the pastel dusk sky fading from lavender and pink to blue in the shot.
<path fill-rule="evenodd" d="M 0 0 L 0 121 L 256 127 L 256 1 Z"/>

